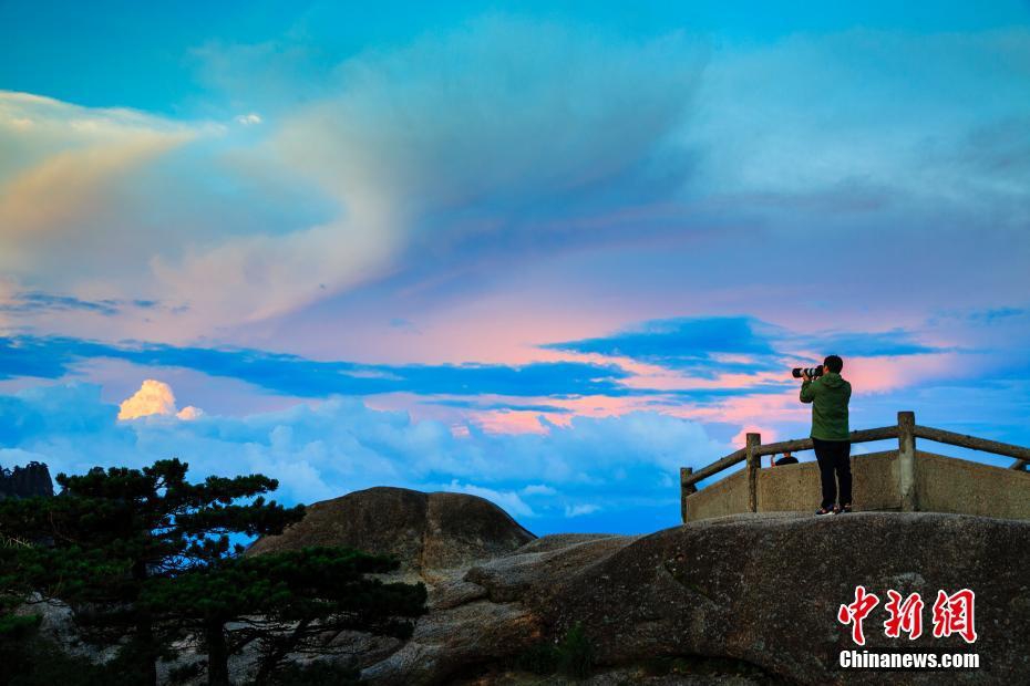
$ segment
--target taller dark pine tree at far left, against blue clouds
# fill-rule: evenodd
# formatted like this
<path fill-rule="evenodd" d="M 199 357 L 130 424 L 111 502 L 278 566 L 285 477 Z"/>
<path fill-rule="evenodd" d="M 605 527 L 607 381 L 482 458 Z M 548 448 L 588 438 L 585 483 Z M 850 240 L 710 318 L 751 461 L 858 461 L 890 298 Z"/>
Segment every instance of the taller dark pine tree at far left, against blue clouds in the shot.
<path fill-rule="evenodd" d="M 60 599 L 84 626 L 131 635 L 127 649 L 137 656 L 141 680 L 156 684 L 161 640 L 150 609 L 138 602 L 145 584 L 229 555 L 230 534 L 279 533 L 303 517 L 301 506 L 265 501 L 275 479 L 189 484 L 187 469 L 168 459 L 143 469 L 61 474 L 55 498 L 0 501 L 0 534 L 30 543 L 9 549 L 8 595 Z"/>

